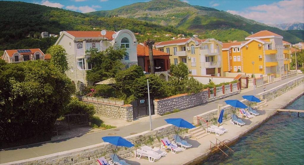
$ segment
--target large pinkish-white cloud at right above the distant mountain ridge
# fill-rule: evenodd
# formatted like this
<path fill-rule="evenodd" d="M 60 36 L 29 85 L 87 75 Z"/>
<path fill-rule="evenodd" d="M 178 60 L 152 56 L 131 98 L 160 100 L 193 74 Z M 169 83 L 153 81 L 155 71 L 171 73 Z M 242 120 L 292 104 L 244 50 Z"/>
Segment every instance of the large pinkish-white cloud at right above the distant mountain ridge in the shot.
<path fill-rule="evenodd" d="M 243 11 L 227 10 L 227 12 L 265 24 L 281 24 L 304 22 L 303 7 L 302 0 L 283 0 L 269 5 L 252 6 Z"/>

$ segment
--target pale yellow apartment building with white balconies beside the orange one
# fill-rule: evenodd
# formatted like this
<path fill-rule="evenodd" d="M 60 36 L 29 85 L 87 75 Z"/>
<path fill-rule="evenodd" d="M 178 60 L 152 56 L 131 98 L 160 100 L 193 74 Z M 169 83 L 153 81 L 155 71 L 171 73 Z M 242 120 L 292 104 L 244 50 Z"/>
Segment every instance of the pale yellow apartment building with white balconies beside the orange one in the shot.
<path fill-rule="evenodd" d="M 155 48 L 170 54 L 170 63 L 185 63 L 190 75 L 222 76 L 223 44 L 214 38 L 185 38 L 162 41 L 154 44 Z"/>

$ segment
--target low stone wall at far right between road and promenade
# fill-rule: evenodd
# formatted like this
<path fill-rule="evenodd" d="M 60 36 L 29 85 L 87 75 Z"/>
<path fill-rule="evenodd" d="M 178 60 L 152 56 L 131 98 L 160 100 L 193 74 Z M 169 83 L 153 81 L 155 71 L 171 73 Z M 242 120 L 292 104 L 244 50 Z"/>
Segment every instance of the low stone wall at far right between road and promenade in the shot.
<path fill-rule="evenodd" d="M 277 87 L 274 87 L 268 91 L 265 92 L 261 92 L 258 95 L 260 95 L 261 99 L 264 100 L 272 100 L 278 96 L 280 96 L 281 94 L 285 93 L 286 91 L 289 91 L 297 86 L 299 86 L 300 84 L 304 83 L 304 76 L 296 78 L 294 80 L 288 81 L 287 83 L 281 84 Z"/>

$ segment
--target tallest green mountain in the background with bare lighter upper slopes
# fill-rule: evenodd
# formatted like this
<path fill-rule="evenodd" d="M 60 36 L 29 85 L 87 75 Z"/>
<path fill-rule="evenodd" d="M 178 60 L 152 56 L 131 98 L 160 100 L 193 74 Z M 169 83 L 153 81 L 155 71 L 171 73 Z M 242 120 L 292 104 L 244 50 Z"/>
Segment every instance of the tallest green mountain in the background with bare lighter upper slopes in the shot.
<path fill-rule="evenodd" d="M 203 2 L 203 1 L 202 1 Z M 109 11 L 97 11 L 88 15 L 102 17 L 118 16 L 136 18 L 159 25 L 172 25 L 180 30 L 195 32 L 201 38 L 212 37 L 221 41 L 244 40 L 250 33 L 269 30 L 297 43 L 304 38 L 289 31 L 270 27 L 239 15 L 219 11 L 215 8 L 193 6 L 179 0 L 153 0 L 134 3 Z M 304 33 L 300 31 L 299 33 Z"/>

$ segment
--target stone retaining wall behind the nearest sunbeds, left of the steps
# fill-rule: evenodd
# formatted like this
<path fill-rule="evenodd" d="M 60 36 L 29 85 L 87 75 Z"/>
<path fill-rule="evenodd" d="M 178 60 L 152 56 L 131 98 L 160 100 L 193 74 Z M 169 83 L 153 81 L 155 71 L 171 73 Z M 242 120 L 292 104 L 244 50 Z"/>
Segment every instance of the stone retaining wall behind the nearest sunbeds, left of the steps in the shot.
<path fill-rule="evenodd" d="M 155 128 L 152 131 L 145 131 L 139 134 L 130 135 L 124 137 L 130 140 L 133 144 L 149 145 L 154 147 L 161 146 L 161 139 L 168 137 L 169 140 L 173 140 L 173 135 L 176 134 L 177 127 L 167 124 L 162 127 Z M 185 134 L 187 129 L 180 129 L 179 134 Z M 135 147 L 117 147 L 116 154 L 122 159 L 130 159 L 134 157 L 133 151 Z M 106 142 L 90 145 L 87 147 L 77 148 L 73 150 L 67 150 L 59 153 L 53 153 L 50 155 L 34 157 L 26 160 L 18 160 L 10 162 L 12 165 L 28 165 L 28 164 L 76 164 L 87 165 L 97 164 L 97 159 L 105 157 L 106 160 L 110 160 L 110 155 L 115 150 L 115 146 Z"/>

